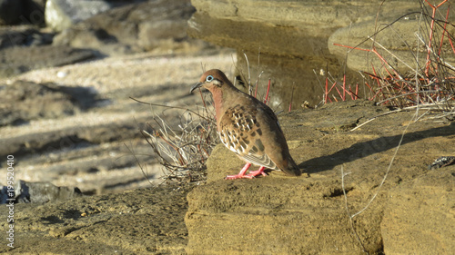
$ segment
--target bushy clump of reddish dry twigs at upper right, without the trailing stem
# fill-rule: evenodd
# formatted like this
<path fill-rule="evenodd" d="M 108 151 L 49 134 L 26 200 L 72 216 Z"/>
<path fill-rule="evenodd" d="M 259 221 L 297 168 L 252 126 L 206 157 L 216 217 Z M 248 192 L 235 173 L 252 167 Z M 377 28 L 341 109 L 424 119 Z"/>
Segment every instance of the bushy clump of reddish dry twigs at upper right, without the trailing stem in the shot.
<path fill-rule="evenodd" d="M 375 34 L 368 36 L 356 46 L 339 46 L 352 51 L 368 52 L 372 58 L 378 59 L 379 64 L 369 65 L 370 72 L 363 72 L 366 98 L 378 105 L 387 105 L 399 109 L 425 108 L 439 112 L 439 117 L 455 119 L 455 68 L 445 59 L 455 57 L 455 37 L 450 34 L 448 20 L 450 5 L 442 1 L 439 6 L 421 2 L 421 12 L 412 15 L 419 16 L 420 28 L 415 35 L 415 42 L 407 42 L 399 35 L 413 56 L 413 63 L 405 63 L 392 51 L 385 48 L 376 40 L 379 34 L 394 34 L 393 25 L 406 19 L 411 14 L 402 15 L 399 19 L 378 28 Z M 370 44 L 369 48 L 365 48 Z M 402 74 L 396 64 L 390 59 L 409 67 L 409 72 Z M 422 61 L 424 59 L 424 61 Z M 423 64 L 422 64 L 423 63 Z M 414 66 L 414 67 L 413 67 Z M 324 103 L 359 99 L 359 84 L 350 85 L 346 81 L 339 82 L 327 73 L 325 81 Z M 335 92 L 335 93 L 334 93 Z"/>

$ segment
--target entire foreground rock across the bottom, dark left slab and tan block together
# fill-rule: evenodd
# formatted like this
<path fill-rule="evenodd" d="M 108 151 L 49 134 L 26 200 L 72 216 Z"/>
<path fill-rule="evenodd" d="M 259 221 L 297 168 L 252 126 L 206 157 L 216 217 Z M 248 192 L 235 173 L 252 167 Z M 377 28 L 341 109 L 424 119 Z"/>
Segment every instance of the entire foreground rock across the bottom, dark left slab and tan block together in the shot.
<path fill-rule="evenodd" d="M 381 113 L 386 115 L 350 131 Z M 414 114 L 389 113 L 368 102 L 280 114 L 290 152 L 309 177 L 269 172 L 254 180 L 223 180 L 243 162 L 218 145 L 207 162 L 207 184 L 196 188 L 161 186 L 42 205 L 16 204 L 16 248 L 2 245 L 0 250 L 363 254 L 348 206 L 351 215 L 361 211 L 353 217 L 353 227 L 371 254 L 449 254 L 455 165 L 437 170 L 428 165 L 440 155 L 455 154 L 450 146 L 455 142 L 454 123 L 435 122 L 431 117 L 437 115 L 424 112 L 412 122 Z M 408 123 L 388 177 L 369 203 Z M 7 211 L 0 207 L 0 215 Z"/>

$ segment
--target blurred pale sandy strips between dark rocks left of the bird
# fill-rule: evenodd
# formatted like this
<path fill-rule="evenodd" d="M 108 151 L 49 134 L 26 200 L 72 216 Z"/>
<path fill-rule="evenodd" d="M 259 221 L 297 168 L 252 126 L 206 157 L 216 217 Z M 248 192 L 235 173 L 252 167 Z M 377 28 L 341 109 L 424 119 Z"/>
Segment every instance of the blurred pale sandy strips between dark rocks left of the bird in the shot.
<path fill-rule="evenodd" d="M 51 139 L 52 134 L 59 136 L 60 133 L 68 131 L 76 134 L 88 133 L 86 136 L 90 136 L 92 132 L 92 135 L 96 136 L 96 131 L 103 127 L 103 132 L 110 132 L 110 140 L 114 140 L 98 144 L 92 142 L 91 145 L 94 146 L 89 148 L 77 149 L 76 143 L 76 146 L 69 149 L 46 152 L 45 148 L 41 148 L 39 152 L 15 155 L 15 180 L 50 181 L 59 186 L 77 186 L 82 191 L 91 193 L 149 186 L 141 169 L 132 159 L 132 152 L 125 146 L 128 145 L 137 154 L 150 155 L 151 149 L 147 142 L 138 134 L 126 135 L 125 139 L 116 139 L 116 136 L 125 136 L 121 127 L 128 125 L 128 128 L 135 128 L 136 123 L 145 124 L 152 119 L 154 113 L 159 114 L 163 109 L 136 103 L 129 97 L 149 103 L 191 108 L 200 103 L 200 97 L 189 95 L 188 91 L 191 84 L 196 83 L 203 73 L 203 68 L 219 68 L 231 76 L 234 63 L 235 54 L 228 50 L 203 55 L 132 54 L 35 70 L 0 81 L 7 85 L 12 85 L 17 80 L 25 80 L 86 87 L 103 99 L 103 103 L 97 107 L 65 118 L 39 119 L 25 125 L 1 127 L 2 139 L 7 139 L 8 142 L 18 140 L 26 147 L 28 143 L 33 143 L 30 142 L 30 137 L 43 137 L 45 140 Z M 62 134 L 62 137 L 65 138 L 65 135 Z M 128 163 L 112 165 L 124 161 L 125 157 L 130 158 Z M 144 160 L 144 163 L 147 164 L 151 181 L 161 182 L 159 177 L 163 175 L 163 169 L 150 157 Z M 85 165 L 86 169 L 96 168 L 97 171 L 82 171 L 80 165 Z M 0 176 L 4 175 L 5 169 L 2 168 Z M 100 181 L 106 183 L 101 185 L 106 187 L 100 187 Z"/>

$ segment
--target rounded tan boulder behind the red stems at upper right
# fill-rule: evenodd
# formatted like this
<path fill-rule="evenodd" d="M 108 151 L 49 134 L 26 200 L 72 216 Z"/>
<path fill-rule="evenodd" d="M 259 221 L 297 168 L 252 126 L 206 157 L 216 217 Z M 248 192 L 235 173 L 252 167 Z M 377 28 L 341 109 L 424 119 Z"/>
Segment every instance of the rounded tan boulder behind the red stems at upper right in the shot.
<path fill-rule="evenodd" d="M 445 6 L 444 6 L 445 7 Z M 445 14 L 446 10 L 441 8 L 440 12 Z M 406 13 L 402 13 L 405 15 Z M 329 37 L 329 51 L 335 54 L 340 61 L 346 61 L 348 67 L 352 70 L 360 70 L 372 73 L 371 66 L 376 70 L 380 70 L 381 60 L 374 53 L 368 53 L 361 50 L 349 50 L 335 44 L 343 44 L 360 49 L 370 49 L 373 45 L 373 40 L 368 40 L 368 36 L 375 41 L 375 48 L 378 53 L 401 74 L 414 70 L 420 70 L 425 66 L 427 61 L 428 48 L 426 44 L 430 41 L 429 17 L 420 16 L 420 14 L 411 14 L 397 20 L 399 16 L 384 17 L 379 21 L 379 27 L 374 20 L 367 20 L 339 28 Z M 438 17 L 437 17 L 438 18 Z M 455 20 L 455 13 L 451 12 L 449 20 Z M 390 25 L 386 27 L 385 25 Z M 375 34 L 375 31 L 382 31 Z M 440 29 L 439 25 L 435 25 L 435 29 Z M 455 27 L 447 26 L 449 34 L 455 34 Z M 437 32 L 433 37 L 433 44 L 440 44 L 440 33 Z M 373 35 L 375 34 L 375 35 Z M 424 44 L 424 42 L 426 42 Z M 348 58 L 347 52 L 349 51 Z M 441 56 L 447 64 L 455 64 L 455 55 L 447 39 L 442 44 Z"/>

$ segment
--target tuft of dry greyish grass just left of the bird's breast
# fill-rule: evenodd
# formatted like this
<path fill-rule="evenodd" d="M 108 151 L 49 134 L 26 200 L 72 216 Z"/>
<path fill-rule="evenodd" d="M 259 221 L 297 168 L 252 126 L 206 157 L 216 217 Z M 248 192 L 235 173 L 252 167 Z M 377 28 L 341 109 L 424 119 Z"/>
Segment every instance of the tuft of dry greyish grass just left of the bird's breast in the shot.
<path fill-rule="evenodd" d="M 171 107 L 147 103 L 153 107 L 166 107 L 177 113 L 178 124 L 164 114 L 154 113 L 153 123 L 141 130 L 157 158 L 164 166 L 165 181 L 205 181 L 207 158 L 219 142 L 215 113 L 206 95 L 200 93 L 204 107 L 193 111 L 184 107 Z M 137 101 L 137 100 L 136 100 Z M 137 101 L 139 102 L 139 101 Z M 145 102 L 139 102 L 145 103 Z M 171 123 L 172 122 L 172 123 Z M 141 167 L 147 177 L 147 171 Z"/>

